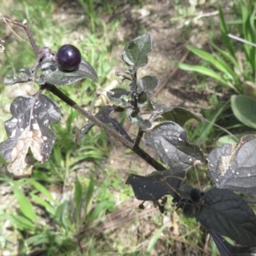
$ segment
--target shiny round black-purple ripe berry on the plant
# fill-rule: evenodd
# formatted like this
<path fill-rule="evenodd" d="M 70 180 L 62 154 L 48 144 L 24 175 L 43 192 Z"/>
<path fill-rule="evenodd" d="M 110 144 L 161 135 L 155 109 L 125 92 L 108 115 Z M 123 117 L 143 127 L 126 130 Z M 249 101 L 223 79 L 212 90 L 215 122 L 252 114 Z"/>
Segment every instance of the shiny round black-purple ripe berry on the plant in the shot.
<path fill-rule="evenodd" d="M 57 52 L 57 60 L 61 70 L 74 71 L 79 67 L 81 54 L 72 44 L 64 44 Z"/>

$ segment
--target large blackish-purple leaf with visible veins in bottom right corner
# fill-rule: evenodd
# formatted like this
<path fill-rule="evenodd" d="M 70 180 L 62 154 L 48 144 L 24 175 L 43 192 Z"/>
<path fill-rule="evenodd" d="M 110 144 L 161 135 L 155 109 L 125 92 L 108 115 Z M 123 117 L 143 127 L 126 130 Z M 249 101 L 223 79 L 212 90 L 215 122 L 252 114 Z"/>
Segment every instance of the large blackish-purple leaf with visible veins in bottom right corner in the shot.
<path fill-rule="evenodd" d="M 241 196 L 229 189 L 210 189 L 202 201 L 196 218 L 207 230 L 256 247 L 256 216 Z"/>

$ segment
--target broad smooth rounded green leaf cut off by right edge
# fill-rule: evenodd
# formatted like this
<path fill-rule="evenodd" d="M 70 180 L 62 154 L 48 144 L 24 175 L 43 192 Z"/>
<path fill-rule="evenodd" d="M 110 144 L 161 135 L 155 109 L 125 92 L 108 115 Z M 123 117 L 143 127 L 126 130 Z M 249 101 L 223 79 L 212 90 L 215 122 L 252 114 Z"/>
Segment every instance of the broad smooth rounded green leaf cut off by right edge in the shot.
<path fill-rule="evenodd" d="M 256 129 L 256 100 L 250 96 L 231 96 L 231 108 L 242 124 Z"/>

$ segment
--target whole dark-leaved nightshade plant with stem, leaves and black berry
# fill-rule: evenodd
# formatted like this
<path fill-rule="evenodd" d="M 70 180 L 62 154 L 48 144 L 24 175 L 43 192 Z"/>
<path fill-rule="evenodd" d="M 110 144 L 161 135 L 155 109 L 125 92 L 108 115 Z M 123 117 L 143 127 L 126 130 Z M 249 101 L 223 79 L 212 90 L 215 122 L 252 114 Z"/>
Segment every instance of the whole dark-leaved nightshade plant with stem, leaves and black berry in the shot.
<path fill-rule="evenodd" d="M 138 68 L 147 65 L 152 51 L 149 34 L 125 45 L 121 59 L 127 69 L 125 73 L 116 74 L 120 78 L 119 84 L 128 81 L 129 86 L 109 90 L 107 95 L 113 104 L 103 106 L 93 115 L 56 87 L 85 78 L 97 81 L 95 70 L 81 59 L 77 49 L 67 45 L 64 47 L 66 51 L 62 46 L 57 54 L 48 48 L 38 50 L 26 20 L 23 23 L 9 22 L 26 30 L 37 60 L 35 67 L 21 69 L 18 75 L 6 77 L 4 83 L 33 81 L 40 85 L 34 96 L 15 98 L 10 107 L 12 117 L 5 122 L 8 139 L 0 143 L 0 152 L 9 162 L 8 170 L 14 174 L 14 179 L 32 175 L 32 166 L 26 163 L 29 148 L 36 160 L 44 162 L 55 143 L 50 125 L 60 121 L 61 111 L 55 102 L 42 94 L 49 90 L 89 119 L 77 140 L 85 136 L 93 125 L 98 125 L 154 166 L 156 171 L 146 177 L 137 174 L 128 177 L 126 183 L 131 184 L 137 200 L 153 201 L 160 212 L 165 212 L 165 196 L 172 195 L 172 202 L 182 209 L 185 217 L 196 218 L 208 230 L 221 255 L 256 255 L 255 213 L 240 195 L 234 193 L 256 197 L 256 136 L 247 135 L 237 145 L 224 144 L 213 149 L 208 155 L 208 172 L 215 188 L 206 192 L 192 187 L 188 190 L 188 185 L 183 183 L 186 172 L 189 172 L 189 167 L 205 160 L 201 149 L 189 143 L 182 126 L 189 119 L 201 122 L 204 119 L 185 108 L 167 107 L 151 100 L 149 93 L 159 84 L 156 77 L 137 79 Z M 65 61 L 69 55 L 67 52 L 71 55 L 70 66 L 70 62 Z M 127 119 L 137 125 L 137 137 L 131 138 L 127 134 L 118 119 L 113 117 L 114 112 L 125 113 Z M 155 121 L 157 125 L 154 125 Z M 142 138 L 165 166 L 140 148 Z M 143 202 L 140 208 L 143 208 Z M 236 245 L 230 244 L 223 236 L 230 237 Z"/>

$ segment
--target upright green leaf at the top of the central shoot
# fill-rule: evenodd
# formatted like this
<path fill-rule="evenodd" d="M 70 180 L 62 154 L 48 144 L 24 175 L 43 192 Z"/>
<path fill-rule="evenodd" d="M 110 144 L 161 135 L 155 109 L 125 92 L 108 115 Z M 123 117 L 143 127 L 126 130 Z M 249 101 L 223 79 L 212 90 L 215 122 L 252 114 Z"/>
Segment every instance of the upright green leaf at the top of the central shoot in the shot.
<path fill-rule="evenodd" d="M 145 34 L 127 43 L 121 57 L 127 65 L 132 67 L 131 73 L 135 73 L 137 68 L 148 64 L 148 55 L 151 51 L 151 36 L 150 34 Z"/>

